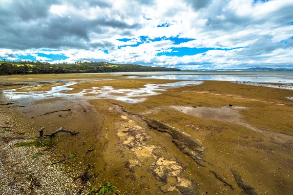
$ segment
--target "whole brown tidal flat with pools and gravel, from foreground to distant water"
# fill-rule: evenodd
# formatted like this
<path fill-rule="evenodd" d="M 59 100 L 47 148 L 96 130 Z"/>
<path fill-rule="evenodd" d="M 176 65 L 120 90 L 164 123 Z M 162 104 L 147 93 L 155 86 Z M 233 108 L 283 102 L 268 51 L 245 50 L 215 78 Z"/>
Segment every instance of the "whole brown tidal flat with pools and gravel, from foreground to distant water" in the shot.
<path fill-rule="evenodd" d="M 290 81 L 147 77 L 1 76 L 0 194 L 292 194 Z"/>

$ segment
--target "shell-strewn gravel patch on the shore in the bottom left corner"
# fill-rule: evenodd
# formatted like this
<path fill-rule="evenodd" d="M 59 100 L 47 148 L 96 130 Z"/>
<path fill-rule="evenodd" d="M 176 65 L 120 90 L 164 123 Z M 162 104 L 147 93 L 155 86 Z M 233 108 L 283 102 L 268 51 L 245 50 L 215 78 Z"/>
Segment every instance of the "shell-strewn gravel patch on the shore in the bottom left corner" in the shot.
<path fill-rule="evenodd" d="M 21 127 L 6 109 L 0 112 L 0 195 L 86 195 L 89 188 L 80 183 L 83 170 L 70 170 L 63 163 L 52 165 L 53 152 L 46 147 L 15 147 L 34 141 L 21 134 Z M 4 109 L 5 110 L 5 109 Z M 12 127 L 12 128 L 11 128 Z"/>

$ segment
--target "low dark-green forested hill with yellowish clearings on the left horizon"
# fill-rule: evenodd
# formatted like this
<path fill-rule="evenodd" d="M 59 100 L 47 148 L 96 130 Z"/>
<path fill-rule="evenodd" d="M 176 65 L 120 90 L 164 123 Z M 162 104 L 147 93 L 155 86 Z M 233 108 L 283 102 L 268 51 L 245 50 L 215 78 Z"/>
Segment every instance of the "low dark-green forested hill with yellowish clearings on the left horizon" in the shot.
<path fill-rule="evenodd" d="M 59 73 L 111 73 L 181 71 L 177 68 L 152 67 L 136 64 L 114 64 L 105 61 L 50 64 L 40 61 L 0 61 L 0 75 L 59 74 Z"/>

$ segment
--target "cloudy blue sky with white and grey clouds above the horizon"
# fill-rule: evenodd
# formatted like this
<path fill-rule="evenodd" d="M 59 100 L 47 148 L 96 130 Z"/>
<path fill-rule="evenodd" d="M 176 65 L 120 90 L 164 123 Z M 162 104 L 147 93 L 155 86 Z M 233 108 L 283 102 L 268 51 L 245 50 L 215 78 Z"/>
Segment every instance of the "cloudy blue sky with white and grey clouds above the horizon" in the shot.
<path fill-rule="evenodd" d="M 293 0 L 0 0 L 0 59 L 293 68 Z"/>

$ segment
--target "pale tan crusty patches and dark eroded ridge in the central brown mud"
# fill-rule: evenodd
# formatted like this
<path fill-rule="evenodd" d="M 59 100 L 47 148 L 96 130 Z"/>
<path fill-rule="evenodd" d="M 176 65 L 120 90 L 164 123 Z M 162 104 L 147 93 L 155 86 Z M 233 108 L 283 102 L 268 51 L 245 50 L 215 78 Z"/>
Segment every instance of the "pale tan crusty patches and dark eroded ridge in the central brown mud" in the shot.
<path fill-rule="evenodd" d="M 153 137 L 148 135 L 148 128 L 156 129 L 159 132 L 166 132 L 174 137 L 174 144 L 185 154 L 191 156 L 195 161 L 202 160 L 204 146 L 200 140 L 190 137 L 180 130 L 168 126 L 160 121 L 151 120 L 147 117 L 129 112 L 120 104 L 114 103 L 114 108 L 125 120 L 116 135 L 120 138 L 120 147 L 124 151 L 128 147 L 132 157 L 127 160 L 126 168 L 132 180 L 136 180 L 135 168 L 146 167 L 145 162 L 150 161 L 147 167 L 152 175 L 163 183 L 161 191 L 163 193 L 176 192 L 178 194 L 195 195 L 198 194 L 194 182 L 183 176 L 186 165 L 180 163 L 175 156 L 168 158 L 160 155 L 156 151 L 162 150 L 162 146 L 151 144 Z M 199 163 L 199 162 L 198 162 Z M 145 168 L 146 169 L 146 168 Z"/>

